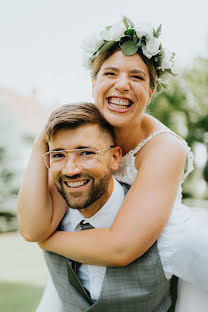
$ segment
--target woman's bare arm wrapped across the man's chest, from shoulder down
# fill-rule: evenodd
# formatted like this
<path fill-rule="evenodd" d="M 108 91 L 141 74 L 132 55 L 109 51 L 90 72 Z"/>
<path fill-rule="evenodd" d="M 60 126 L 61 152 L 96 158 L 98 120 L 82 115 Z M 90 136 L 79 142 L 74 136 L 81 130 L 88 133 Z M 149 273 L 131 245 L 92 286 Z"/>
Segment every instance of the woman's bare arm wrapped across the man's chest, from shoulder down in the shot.
<path fill-rule="evenodd" d="M 110 228 L 59 231 L 40 247 L 105 266 L 127 265 L 145 253 L 167 224 L 186 161 L 185 148 L 174 136 L 151 141 L 136 160 L 139 173 Z"/>

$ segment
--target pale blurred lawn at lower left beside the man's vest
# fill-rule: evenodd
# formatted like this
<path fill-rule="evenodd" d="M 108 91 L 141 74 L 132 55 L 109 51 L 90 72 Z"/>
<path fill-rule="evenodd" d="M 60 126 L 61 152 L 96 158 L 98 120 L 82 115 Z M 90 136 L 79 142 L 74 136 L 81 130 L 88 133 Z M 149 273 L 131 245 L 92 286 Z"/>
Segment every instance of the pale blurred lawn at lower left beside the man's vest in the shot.
<path fill-rule="evenodd" d="M 34 312 L 48 279 L 41 250 L 19 233 L 0 234 L 0 246 L 0 311 Z"/>

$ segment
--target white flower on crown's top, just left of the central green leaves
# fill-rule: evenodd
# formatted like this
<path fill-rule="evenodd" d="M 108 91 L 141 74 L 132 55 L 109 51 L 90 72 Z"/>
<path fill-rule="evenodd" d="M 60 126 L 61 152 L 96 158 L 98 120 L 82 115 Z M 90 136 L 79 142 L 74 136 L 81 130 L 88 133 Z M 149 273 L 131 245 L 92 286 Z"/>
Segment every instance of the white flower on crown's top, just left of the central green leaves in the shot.
<path fill-rule="evenodd" d="M 121 37 L 124 36 L 124 31 L 126 27 L 123 24 L 123 21 L 119 21 L 111 26 L 110 29 L 104 29 L 100 33 L 100 37 L 106 41 L 119 41 Z"/>

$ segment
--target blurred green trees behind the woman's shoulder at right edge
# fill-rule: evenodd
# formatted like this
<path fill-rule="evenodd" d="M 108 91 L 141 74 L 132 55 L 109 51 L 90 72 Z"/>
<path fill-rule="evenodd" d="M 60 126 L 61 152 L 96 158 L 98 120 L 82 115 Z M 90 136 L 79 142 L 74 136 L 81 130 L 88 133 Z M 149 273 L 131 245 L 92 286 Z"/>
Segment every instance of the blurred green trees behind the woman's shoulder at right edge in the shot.
<path fill-rule="evenodd" d="M 148 107 L 151 115 L 183 137 L 192 149 L 196 142 L 208 144 L 207 86 L 208 60 L 199 58 L 192 68 L 184 70 L 182 78 L 172 79 L 168 89 L 163 86 L 163 93 L 155 93 Z M 208 182 L 208 163 L 199 171 L 198 176 Z"/>

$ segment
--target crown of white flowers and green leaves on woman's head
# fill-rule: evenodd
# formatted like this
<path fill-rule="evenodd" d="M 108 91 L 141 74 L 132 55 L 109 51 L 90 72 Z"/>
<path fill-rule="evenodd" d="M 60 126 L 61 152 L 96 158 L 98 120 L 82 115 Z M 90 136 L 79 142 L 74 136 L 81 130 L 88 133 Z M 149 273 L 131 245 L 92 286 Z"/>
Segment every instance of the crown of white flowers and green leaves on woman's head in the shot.
<path fill-rule="evenodd" d="M 175 53 L 162 47 L 159 40 L 162 25 L 155 30 L 150 24 L 134 24 L 129 18 L 123 17 L 111 26 L 105 27 L 99 35 L 93 34 L 82 43 L 83 65 L 91 69 L 95 58 L 103 51 L 110 49 L 119 42 L 124 55 L 133 55 L 139 49 L 148 58 L 156 70 L 157 92 L 168 88 L 170 75 L 174 73 Z"/>

